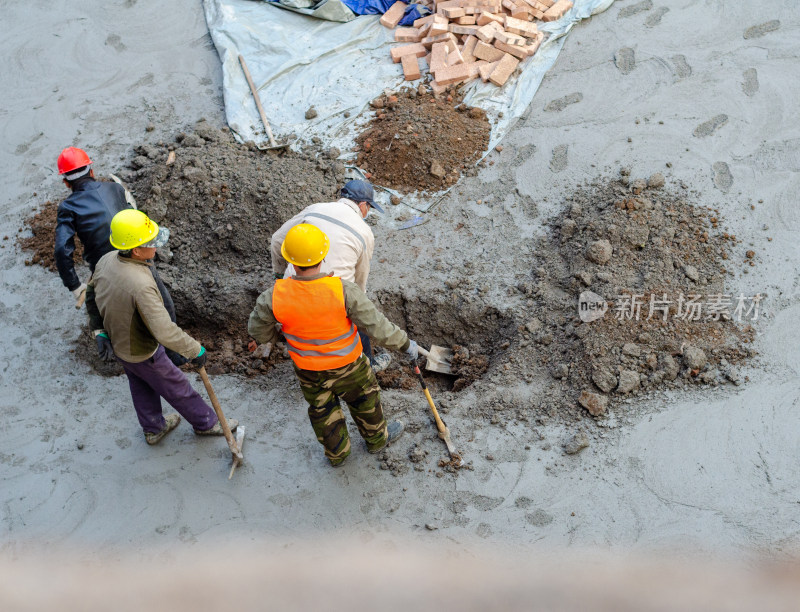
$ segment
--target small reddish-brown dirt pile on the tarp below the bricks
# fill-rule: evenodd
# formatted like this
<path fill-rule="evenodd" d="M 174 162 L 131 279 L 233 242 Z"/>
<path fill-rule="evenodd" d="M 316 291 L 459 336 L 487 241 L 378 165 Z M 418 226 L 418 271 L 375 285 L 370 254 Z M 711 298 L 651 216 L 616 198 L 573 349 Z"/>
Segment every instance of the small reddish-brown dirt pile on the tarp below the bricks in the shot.
<path fill-rule="evenodd" d="M 425 87 L 373 100 L 375 116 L 356 139 L 358 165 L 371 180 L 403 192 L 454 185 L 489 146 L 486 113 L 461 104 L 456 92 Z"/>

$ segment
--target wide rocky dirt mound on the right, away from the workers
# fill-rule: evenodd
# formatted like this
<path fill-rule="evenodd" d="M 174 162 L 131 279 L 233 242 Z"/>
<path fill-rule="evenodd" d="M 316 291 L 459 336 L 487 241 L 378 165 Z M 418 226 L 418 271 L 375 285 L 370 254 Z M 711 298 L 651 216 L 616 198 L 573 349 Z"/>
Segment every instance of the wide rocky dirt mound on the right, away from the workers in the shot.
<path fill-rule="evenodd" d="M 739 253 L 716 210 L 663 186 L 660 174 L 631 181 L 623 169 L 568 198 L 536 249 L 526 361 L 594 415 L 684 382 L 738 384 L 734 365 L 753 354 L 753 328 L 724 283 L 732 260 L 749 266 L 753 254 Z"/>

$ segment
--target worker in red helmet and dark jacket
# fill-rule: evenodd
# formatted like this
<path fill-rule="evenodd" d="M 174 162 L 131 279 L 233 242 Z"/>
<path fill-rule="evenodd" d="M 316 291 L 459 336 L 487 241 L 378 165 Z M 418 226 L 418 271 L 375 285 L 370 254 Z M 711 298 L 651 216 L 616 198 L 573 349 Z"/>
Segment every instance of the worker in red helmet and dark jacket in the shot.
<path fill-rule="evenodd" d="M 118 183 L 95 180 L 94 170 L 91 167 L 92 160 L 83 149 L 67 147 L 58 156 L 57 166 L 64 184 L 72 193 L 58 205 L 56 267 L 64 286 L 75 297 L 76 308 L 80 308 L 86 283 L 82 283 L 75 272 L 73 257 L 75 235 L 77 234 L 83 244 L 83 258 L 89 264 L 89 270 L 94 272 L 100 258 L 114 250 L 108 241 L 112 217 L 121 210 L 131 208 L 130 202 L 133 202 L 133 197 L 129 196 L 125 188 Z M 174 323 L 175 305 L 172 297 L 154 265 L 150 267 L 150 271 L 164 300 L 164 306 Z M 167 356 L 175 365 L 186 363 L 186 360 L 174 351 L 167 350 Z"/>

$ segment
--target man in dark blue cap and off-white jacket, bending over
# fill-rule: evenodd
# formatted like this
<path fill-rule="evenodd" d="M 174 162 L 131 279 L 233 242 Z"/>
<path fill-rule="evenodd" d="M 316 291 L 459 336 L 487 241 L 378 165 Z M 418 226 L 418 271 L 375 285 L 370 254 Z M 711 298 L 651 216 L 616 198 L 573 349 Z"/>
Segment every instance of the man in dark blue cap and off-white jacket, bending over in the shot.
<path fill-rule="evenodd" d="M 364 219 L 371 209 L 380 213 L 383 209 L 375 203 L 375 190 L 367 181 L 348 181 L 339 196 L 335 202 L 321 202 L 304 208 L 272 235 L 272 270 L 276 279 L 291 278 L 294 274 L 292 265 L 287 265 L 281 255 L 281 245 L 289 230 L 299 223 L 310 223 L 325 232 L 331 241 L 329 256 L 322 262 L 321 271 L 332 272 L 342 280 L 355 283 L 366 293 L 375 236 Z M 388 353 L 374 355 L 369 336 L 363 331 L 360 336 L 364 354 L 369 357 L 372 368 L 376 372 L 385 370 L 391 363 L 391 356 Z"/>

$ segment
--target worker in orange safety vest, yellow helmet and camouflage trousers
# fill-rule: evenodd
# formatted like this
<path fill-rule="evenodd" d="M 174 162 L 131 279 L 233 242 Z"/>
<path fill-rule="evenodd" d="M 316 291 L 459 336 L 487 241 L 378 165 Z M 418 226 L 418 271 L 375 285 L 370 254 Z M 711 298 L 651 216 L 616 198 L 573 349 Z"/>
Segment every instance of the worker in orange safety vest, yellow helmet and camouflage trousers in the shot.
<path fill-rule="evenodd" d="M 274 342 L 277 325 L 308 402 L 308 416 L 331 465 L 350 454 L 350 438 L 339 400 L 344 400 L 370 453 L 377 453 L 403 433 L 403 424 L 386 424 L 380 387 L 364 355 L 359 330 L 378 344 L 405 351 L 416 359 L 419 347 L 381 314 L 361 288 L 322 271 L 330 240 L 318 227 L 291 228 L 281 246 L 294 275 L 275 281 L 258 297 L 247 330 L 257 342 Z"/>

